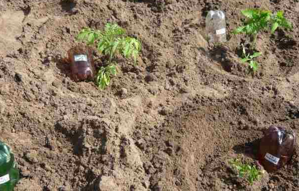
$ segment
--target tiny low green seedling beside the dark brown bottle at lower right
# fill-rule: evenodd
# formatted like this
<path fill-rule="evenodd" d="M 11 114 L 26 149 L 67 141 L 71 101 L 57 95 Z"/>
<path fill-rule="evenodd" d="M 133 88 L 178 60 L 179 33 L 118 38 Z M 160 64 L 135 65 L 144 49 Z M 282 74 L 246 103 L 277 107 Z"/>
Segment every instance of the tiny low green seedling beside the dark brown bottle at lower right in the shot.
<path fill-rule="evenodd" d="M 263 174 L 256 166 L 243 164 L 238 159 L 231 160 L 230 165 L 238 171 L 238 177 L 246 178 L 251 185 L 254 181 L 258 181 Z"/>

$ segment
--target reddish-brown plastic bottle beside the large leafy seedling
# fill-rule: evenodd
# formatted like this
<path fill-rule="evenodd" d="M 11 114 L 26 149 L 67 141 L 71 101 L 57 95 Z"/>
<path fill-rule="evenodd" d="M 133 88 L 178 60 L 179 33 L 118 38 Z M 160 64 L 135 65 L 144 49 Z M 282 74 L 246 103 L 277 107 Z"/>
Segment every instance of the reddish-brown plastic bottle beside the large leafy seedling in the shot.
<path fill-rule="evenodd" d="M 88 46 L 78 45 L 68 51 L 71 64 L 72 79 L 75 82 L 94 80 L 95 64 L 91 49 Z"/>

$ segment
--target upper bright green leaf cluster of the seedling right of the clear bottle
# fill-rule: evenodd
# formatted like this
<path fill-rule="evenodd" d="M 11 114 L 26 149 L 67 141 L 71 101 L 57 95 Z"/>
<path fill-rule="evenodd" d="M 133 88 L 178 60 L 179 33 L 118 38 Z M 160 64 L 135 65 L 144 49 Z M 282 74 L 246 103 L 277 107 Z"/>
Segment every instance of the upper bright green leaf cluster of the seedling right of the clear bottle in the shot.
<path fill-rule="evenodd" d="M 252 37 L 252 47 L 255 46 L 256 38 L 261 30 L 270 30 L 274 33 L 278 27 L 292 29 L 293 25 L 284 17 L 284 11 L 280 10 L 273 14 L 270 10 L 246 9 L 241 13 L 247 18 L 243 26 L 236 28 L 233 33 L 244 33 Z"/>

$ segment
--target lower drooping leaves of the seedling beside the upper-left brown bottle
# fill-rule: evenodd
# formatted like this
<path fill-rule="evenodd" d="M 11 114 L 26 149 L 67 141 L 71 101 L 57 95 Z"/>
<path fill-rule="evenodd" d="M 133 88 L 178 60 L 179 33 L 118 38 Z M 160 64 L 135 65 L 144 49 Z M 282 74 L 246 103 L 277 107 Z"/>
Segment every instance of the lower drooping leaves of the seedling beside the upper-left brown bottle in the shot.
<path fill-rule="evenodd" d="M 110 64 L 106 67 L 101 67 L 97 76 L 96 76 L 96 84 L 100 88 L 100 90 L 105 89 L 106 86 L 110 84 L 110 76 L 116 75 L 116 67 L 113 64 Z"/>

